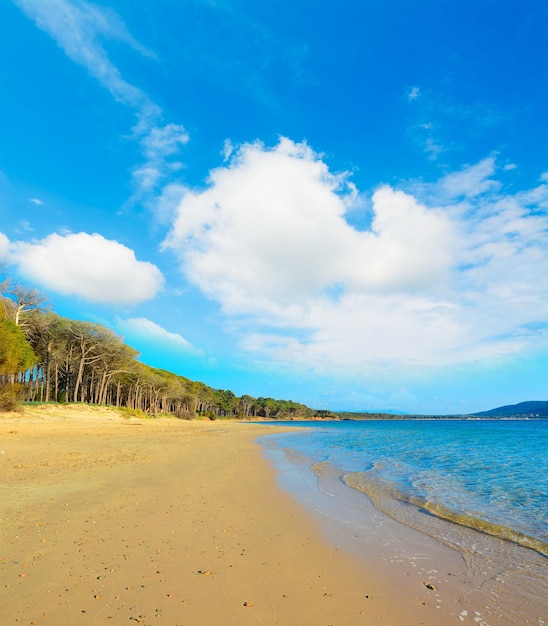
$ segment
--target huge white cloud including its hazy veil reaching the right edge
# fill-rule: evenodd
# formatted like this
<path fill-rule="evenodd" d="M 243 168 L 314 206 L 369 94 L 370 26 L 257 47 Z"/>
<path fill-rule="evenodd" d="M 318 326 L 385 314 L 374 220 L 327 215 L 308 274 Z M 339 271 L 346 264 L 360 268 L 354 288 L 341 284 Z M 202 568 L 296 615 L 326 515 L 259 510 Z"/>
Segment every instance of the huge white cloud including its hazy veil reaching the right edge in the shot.
<path fill-rule="evenodd" d="M 306 144 L 244 145 L 187 190 L 164 246 L 243 346 L 312 367 L 446 365 L 546 343 L 548 185 L 504 195 L 489 157 L 372 198 Z M 240 323 L 240 325 L 238 325 Z"/>

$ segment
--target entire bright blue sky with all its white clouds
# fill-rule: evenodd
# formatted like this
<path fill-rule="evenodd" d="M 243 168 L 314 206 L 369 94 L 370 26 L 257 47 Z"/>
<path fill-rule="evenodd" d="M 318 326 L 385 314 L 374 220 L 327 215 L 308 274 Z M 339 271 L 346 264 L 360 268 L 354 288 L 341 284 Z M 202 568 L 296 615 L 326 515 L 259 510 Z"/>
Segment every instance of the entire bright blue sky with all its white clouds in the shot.
<path fill-rule="evenodd" d="M 545 0 L 5 0 L 0 260 L 316 409 L 548 400 Z"/>

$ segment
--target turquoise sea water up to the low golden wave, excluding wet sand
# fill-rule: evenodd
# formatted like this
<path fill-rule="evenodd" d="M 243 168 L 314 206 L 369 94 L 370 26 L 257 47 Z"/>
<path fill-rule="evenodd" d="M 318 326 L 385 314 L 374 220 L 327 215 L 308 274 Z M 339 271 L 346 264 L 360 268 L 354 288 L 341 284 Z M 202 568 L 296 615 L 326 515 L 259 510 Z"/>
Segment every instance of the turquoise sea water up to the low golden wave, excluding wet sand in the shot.
<path fill-rule="evenodd" d="M 287 425 L 287 423 L 283 423 Z M 548 547 L 548 421 L 292 422 L 269 445 L 327 462 L 349 486 L 477 530 Z M 382 506 L 380 507 L 382 509 Z M 522 537 L 522 535 L 524 537 Z"/>

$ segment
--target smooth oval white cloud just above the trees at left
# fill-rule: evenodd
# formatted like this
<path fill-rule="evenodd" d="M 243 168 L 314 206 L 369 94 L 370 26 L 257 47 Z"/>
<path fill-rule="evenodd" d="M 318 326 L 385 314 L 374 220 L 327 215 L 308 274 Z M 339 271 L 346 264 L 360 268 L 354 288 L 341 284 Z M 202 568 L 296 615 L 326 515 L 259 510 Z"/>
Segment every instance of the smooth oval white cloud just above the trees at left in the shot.
<path fill-rule="evenodd" d="M 35 243 L 16 242 L 10 258 L 42 287 L 93 302 L 137 304 L 153 298 L 164 282 L 155 265 L 98 234 L 54 233 Z"/>

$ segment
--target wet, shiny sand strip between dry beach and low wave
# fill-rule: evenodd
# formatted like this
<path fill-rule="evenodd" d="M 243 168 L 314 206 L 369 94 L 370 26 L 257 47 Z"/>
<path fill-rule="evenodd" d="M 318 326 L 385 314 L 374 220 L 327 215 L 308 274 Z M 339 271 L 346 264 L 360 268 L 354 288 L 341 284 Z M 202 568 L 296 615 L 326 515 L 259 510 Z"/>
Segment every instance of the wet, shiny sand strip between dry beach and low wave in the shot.
<path fill-rule="evenodd" d="M 276 440 L 266 435 L 262 443 L 284 488 L 322 519 L 330 541 L 382 563 L 383 576 L 406 593 L 414 593 L 417 582 L 433 584 L 436 605 L 448 611 L 439 623 L 455 617 L 481 626 L 548 621 L 546 556 L 535 548 L 448 520 L 389 491 L 352 485 L 347 479 L 353 474 Z"/>

